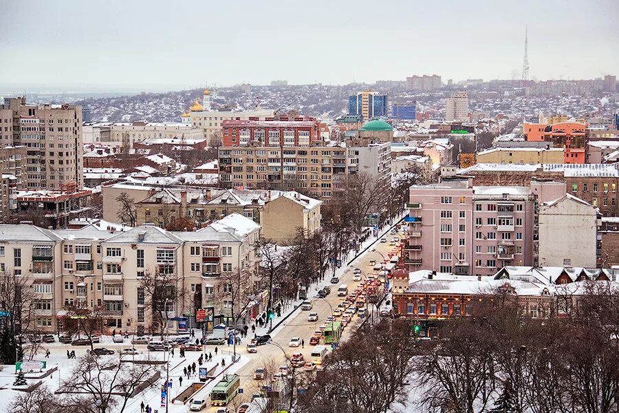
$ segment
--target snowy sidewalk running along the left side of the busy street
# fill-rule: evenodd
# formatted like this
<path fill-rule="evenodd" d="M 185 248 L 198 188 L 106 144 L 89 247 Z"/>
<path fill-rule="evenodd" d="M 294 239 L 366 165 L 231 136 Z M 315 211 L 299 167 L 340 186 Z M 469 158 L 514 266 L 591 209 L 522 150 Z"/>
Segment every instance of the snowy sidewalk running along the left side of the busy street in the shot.
<path fill-rule="evenodd" d="M 405 212 L 407 213 L 407 211 Z M 406 213 L 403 213 L 402 216 L 400 216 L 400 218 L 393 218 L 395 222 L 392 225 L 382 226 L 378 230 L 377 237 L 374 237 L 373 235 L 371 235 L 370 237 L 367 238 L 367 240 L 365 240 L 365 242 L 362 242 L 359 248 L 359 253 L 356 253 L 356 255 L 354 255 L 349 261 L 347 261 L 348 260 L 347 257 L 351 255 L 351 253 L 354 253 L 354 251 L 349 251 L 346 257 L 342 257 L 343 265 L 340 268 L 336 268 L 335 277 L 341 277 L 347 271 L 348 267 L 351 264 L 353 264 L 355 260 L 357 260 L 357 258 L 362 257 L 365 254 L 367 254 L 368 251 L 371 250 L 371 246 L 373 246 L 373 244 L 376 244 L 376 242 L 378 242 L 381 238 L 384 238 L 387 235 L 389 235 L 389 232 L 391 231 L 391 229 L 393 229 L 394 226 L 398 226 L 404 220 L 404 215 L 406 215 Z M 318 290 L 320 290 L 324 286 L 331 286 L 332 284 L 330 282 L 330 279 L 333 276 L 334 276 L 333 268 L 329 268 L 329 270 L 327 270 L 327 273 L 325 273 L 325 279 L 322 279 L 318 281 L 316 284 L 312 284 L 312 286 L 310 286 L 310 289 L 307 290 L 307 297 L 308 298 L 314 297 L 314 295 L 318 293 Z M 261 336 L 265 334 L 270 334 L 271 336 L 276 335 L 279 327 L 285 326 L 286 321 L 290 316 L 294 315 L 298 311 L 301 311 L 300 308 L 301 308 L 301 303 L 303 301 L 305 300 L 297 299 L 295 301 L 292 301 L 291 304 L 288 304 L 286 308 L 283 308 L 281 312 L 281 317 L 274 317 L 273 330 L 271 332 L 269 332 L 269 324 L 263 327 L 256 326 L 256 335 L 257 336 Z M 251 330 L 248 331 L 248 337 L 250 337 L 250 339 L 253 338 Z"/>

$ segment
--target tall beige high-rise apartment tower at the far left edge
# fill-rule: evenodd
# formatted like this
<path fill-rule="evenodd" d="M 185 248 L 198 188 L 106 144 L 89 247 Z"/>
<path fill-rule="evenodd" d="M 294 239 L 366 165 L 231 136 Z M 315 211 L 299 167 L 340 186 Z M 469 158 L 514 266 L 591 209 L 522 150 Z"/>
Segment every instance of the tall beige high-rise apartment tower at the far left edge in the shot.
<path fill-rule="evenodd" d="M 2 146 L 28 148 L 23 187 L 83 187 L 80 106 L 28 105 L 25 97 L 5 98 L 0 105 L 0 123 Z"/>

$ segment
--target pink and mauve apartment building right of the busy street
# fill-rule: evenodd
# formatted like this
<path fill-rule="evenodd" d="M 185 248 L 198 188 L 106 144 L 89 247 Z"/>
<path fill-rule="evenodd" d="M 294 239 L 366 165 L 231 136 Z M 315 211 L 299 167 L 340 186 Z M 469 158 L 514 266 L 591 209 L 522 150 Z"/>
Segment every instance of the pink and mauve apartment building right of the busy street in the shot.
<path fill-rule="evenodd" d="M 476 187 L 462 179 L 411 187 L 405 264 L 456 275 L 532 265 L 538 193 L 540 202 L 554 200 L 565 195 L 565 184 Z"/>

